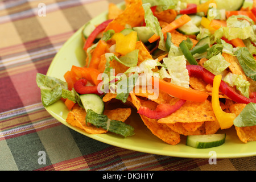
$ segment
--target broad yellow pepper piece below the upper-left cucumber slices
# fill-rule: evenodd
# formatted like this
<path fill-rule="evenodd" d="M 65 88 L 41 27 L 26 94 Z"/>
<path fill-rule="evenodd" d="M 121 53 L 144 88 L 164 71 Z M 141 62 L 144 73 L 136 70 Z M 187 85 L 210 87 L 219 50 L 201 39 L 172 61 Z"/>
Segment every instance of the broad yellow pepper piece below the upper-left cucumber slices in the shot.
<path fill-rule="evenodd" d="M 118 32 L 112 36 L 115 40 L 115 51 L 121 53 L 121 55 L 126 55 L 127 53 L 134 51 L 137 43 L 137 32 L 131 31 L 128 35 L 123 35 Z"/>

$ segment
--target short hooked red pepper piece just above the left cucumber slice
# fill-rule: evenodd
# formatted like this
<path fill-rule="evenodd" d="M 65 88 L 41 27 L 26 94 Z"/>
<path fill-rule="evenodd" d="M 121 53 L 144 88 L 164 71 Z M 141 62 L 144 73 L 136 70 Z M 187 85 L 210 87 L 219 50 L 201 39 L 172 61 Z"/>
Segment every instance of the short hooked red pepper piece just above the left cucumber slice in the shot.
<path fill-rule="evenodd" d="M 95 86 L 85 86 L 87 83 L 87 80 L 85 78 L 81 78 L 77 80 L 74 84 L 74 89 L 79 94 L 88 94 L 88 93 L 98 93 L 98 85 Z"/>

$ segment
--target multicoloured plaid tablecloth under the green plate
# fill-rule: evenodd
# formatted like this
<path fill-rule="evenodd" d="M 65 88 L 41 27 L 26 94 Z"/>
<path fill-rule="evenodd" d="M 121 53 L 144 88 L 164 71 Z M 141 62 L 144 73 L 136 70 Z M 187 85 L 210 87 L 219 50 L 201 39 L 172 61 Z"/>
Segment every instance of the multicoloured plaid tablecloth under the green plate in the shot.
<path fill-rule="evenodd" d="M 109 3 L 119 2 L 0 1 L 0 170 L 255 170 L 256 156 L 209 164 L 208 159 L 110 146 L 48 114 L 36 73 L 46 74 L 53 57 L 77 29 L 108 10 Z"/>

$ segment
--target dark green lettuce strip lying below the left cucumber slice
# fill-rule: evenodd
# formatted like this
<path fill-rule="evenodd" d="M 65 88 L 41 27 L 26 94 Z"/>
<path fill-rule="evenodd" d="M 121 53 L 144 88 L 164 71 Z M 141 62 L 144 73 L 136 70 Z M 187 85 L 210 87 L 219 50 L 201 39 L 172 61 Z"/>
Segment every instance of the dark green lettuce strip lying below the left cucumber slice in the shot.
<path fill-rule="evenodd" d="M 134 135 L 134 128 L 132 126 L 122 121 L 109 119 L 107 115 L 95 113 L 91 109 L 87 110 L 85 121 L 123 137 Z"/>

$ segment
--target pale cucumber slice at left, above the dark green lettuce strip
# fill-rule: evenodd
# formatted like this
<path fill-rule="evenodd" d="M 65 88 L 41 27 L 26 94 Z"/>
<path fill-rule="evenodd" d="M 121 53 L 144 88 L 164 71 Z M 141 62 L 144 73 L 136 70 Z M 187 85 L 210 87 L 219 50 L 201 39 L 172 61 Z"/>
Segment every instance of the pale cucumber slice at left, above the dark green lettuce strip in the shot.
<path fill-rule="evenodd" d="M 89 94 L 82 94 L 80 96 L 82 105 L 84 106 L 85 110 L 92 109 L 95 113 L 102 114 L 104 111 L 104 102 L 102 101 L 101 97 L 97 94 L 89 93 Z"/>

